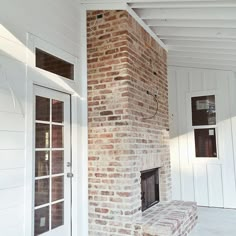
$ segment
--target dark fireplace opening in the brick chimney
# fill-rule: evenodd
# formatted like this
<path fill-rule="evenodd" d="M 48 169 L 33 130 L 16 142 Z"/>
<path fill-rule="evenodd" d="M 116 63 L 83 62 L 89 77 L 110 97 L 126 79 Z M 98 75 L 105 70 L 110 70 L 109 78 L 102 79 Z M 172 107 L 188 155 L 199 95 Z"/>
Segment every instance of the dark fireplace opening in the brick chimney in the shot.
<path fill-rule="evenodd" d="M 158 169 L 141 171 L 141 200 L 142 211 L 159 202 Z"/>

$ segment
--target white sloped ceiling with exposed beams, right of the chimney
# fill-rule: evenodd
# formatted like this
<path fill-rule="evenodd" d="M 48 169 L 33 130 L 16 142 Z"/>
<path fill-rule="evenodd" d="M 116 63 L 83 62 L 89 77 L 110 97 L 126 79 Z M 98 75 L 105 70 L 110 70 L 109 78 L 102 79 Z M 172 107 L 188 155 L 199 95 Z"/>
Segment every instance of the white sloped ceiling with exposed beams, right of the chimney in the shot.
<path fill-rule="evenodd" d="M 130 0 L 169 49 L 168 64 L 236 71 L 236 0 Z"/>

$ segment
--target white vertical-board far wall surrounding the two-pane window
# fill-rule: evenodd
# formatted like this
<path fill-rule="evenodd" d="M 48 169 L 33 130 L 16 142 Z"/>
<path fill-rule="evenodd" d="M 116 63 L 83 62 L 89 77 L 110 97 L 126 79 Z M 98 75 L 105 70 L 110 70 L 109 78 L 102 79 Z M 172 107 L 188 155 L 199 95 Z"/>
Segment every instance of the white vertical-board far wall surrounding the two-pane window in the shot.
<path fill-rule="evenodd" d="M 170 67 L 173 199 L 236 208 L 236 78 L 233 72 Z M 217 158 L 196 158 L 191 97 L 215 95 Z"/>

